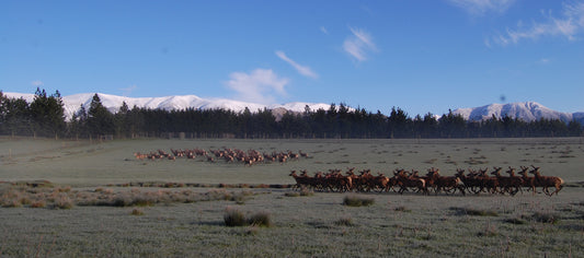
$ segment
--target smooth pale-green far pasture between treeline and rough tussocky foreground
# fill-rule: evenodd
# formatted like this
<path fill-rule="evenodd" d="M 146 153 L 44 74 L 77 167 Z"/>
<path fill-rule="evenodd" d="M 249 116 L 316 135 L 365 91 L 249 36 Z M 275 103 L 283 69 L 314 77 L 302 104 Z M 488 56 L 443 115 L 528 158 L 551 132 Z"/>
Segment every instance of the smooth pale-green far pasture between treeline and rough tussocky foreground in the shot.
<path fill-rule="evenodd" d="M 138 161 L 135 152 L 161 149 L 302 150 L 310 159 L 251 167 L 224 161 Z M 119 140 L 108 142 L 0 139 L 0 180 L 47 179 L 56 184 L 95 186 L 127 181 L 203 184 L 293 184 L 291 169 L 356 167 L 392 175 L 396 168 L 422 173 L 456 168 L 539 166 L 542 175 L 568 183 L 584 180 L 584 144 L 580 138 L 470 140 Z"/>

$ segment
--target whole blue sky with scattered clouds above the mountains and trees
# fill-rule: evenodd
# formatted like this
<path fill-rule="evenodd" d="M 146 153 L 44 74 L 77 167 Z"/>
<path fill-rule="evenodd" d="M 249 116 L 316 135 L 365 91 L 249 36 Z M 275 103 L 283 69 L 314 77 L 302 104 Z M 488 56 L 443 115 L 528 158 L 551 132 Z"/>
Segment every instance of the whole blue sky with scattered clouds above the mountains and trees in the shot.
<path fill-rule="evenodd" d="M 0 91 L 584 112 L 584 0 L 0 1 Z"/>

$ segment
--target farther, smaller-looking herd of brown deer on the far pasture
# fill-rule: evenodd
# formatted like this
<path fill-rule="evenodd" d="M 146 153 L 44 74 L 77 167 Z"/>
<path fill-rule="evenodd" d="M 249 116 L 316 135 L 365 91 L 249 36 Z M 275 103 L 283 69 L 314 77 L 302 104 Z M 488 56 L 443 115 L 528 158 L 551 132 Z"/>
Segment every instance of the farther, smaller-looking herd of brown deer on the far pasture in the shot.
<path fill-rule="evenodd" d="M 150 153 L 134 153 L 137 160 L 176 160 L 176 157 L 186 157 L 194 160 L 198 156 L 204 157 L 208 162 L 216 162 L 219 160 L 224 160 L 227 163 L 234 163 L 240 162 L 245 165 L 253 165 L 256 163 L 262 162 L 279 162 L 285 163 L 289 160 L 298 160 L 300 157 L 308 157 L 308 153 L 298 151 L 298 153 L 295 153 L 293 151 L 286 151 L 286 152 L 272 152 L 272 153 L 261 153 L 256 150 L 248 150 L 242 151 L 239 149 L 224 149 L 224 150 L 202 150 L 202 149 L 186 149 L 186 150 L 173 150 L 171 149 L 171 153 L 167 153 L 163 150 L 157 150 L 156 152 Z"/>

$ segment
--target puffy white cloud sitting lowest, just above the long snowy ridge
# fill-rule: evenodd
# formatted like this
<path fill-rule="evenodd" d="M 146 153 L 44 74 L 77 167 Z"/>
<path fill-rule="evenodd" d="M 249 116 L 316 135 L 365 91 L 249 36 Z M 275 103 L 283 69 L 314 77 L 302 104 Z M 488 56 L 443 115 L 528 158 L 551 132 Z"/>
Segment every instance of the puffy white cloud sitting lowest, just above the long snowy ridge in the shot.
<path fill-rule="evenodd" d="M 288 84 L 287 78 L 279 78 L 272 69 L 255 69 L 251 73 L 232 72 L 227 87 L 237 93 L 241 101 L 271 104 L 276 96 L 286 96 L 284 89 Z"/>

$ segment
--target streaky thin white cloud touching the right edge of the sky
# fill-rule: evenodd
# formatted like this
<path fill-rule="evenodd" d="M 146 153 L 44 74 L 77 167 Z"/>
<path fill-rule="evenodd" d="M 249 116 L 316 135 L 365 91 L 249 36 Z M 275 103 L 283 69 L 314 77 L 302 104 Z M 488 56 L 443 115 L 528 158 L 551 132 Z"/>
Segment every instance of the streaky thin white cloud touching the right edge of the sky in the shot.
<path fill-rule="evenodd" d="M 543 17 L 542 22 L 534 22 L 531 26 L 522 24 L 516 28 L 506 28 L 504 33 L 486 39 L 485 45 L 489 47 L 492 42 L 506 46 L 540 37 L 564 37 L 568 40 L 575 40 L 576 36 L 584 32 L 584 2 L 564 3 L 559 17 L 553 16 L 551 11 L 543 12 Z"/>

